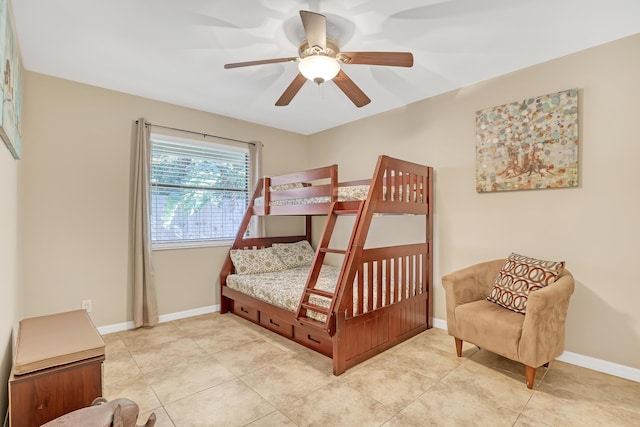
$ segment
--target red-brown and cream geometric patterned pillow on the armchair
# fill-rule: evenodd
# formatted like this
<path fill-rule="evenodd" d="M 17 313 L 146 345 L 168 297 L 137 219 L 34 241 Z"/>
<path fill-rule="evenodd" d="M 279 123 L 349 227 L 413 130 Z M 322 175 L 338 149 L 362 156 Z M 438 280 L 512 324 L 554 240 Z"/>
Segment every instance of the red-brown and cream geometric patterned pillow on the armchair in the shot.
<path fill-rule="evenodd" d="M 512 253 L 504 263 L 487 299 L 524 314 L 529 293 L 552 284 L 564 261 L 543 261 Z"/>

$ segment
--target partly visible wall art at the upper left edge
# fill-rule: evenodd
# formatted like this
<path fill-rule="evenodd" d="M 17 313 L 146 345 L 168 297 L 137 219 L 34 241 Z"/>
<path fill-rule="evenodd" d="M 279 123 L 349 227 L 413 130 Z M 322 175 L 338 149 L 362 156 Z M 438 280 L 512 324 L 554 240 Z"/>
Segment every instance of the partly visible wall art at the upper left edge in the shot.
<path fill-rule="evenodd" d="M 22 63 L 9 0 L 0 0 L 0 138 L 14 158 L 21 153 Z"/>

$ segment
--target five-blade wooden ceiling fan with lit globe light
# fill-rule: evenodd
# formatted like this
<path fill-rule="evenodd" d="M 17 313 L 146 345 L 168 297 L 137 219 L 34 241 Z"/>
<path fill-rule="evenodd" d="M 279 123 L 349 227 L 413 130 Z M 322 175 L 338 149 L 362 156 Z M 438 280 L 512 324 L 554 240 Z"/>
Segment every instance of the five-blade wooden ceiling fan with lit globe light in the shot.
<path fill-rule="evenodd" d="M 336 86 L 347 95 L 356 107 L 363 107 L 371 100 L 342 71 L 340 64 L 413 66 L 413 55 L 409 52 L 340 52 L 337 42 L 331 37 L 327 37 L 327 19 L 324 15 L 301 10 L 300 18 L 302 18 L 302 26 L 307 39 L 300 43 L 298 56 L 236 62 L 225 64 L 224 68 L 248 67 L 278 62 L 298 62 L 299 73 L 276 101 L 276 106 L 289 105 L 307 80 L 317 84 L 333 80 Z"/>

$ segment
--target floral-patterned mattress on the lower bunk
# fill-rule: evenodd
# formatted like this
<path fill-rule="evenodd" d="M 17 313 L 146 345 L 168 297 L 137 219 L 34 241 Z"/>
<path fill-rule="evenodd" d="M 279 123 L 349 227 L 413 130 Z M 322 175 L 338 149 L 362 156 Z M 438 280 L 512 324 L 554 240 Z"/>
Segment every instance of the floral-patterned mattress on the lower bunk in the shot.
<path fill-rule="evenodd" d="M 333 292 L 338 282 L 340 268 L 323 265 L 320 269 L 316 289 Z M 230 274 L 227 286 L 245 295 L 268 302 L 285 310 L 296 312 L 300 297 L 304 292 L 309 277 L 309 267 L 290 268 L 282 271 L 260 274 Z M 329 308 L 331 300 L 319 295 L 312 295 L 312 304 Z M 324 322 L 325 316 L 320 313 L 309 313 L 309 317 Z"/>

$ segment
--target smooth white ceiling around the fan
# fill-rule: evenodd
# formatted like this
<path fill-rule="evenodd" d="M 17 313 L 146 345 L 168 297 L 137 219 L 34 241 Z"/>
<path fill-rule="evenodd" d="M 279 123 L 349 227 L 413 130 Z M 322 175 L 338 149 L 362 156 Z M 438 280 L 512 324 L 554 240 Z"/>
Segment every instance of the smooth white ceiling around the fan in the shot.
<path fill-rule="evenodd" d="M 12 0 L 24 67 L 312 134 L 640 32 L 640 0 Z M 327 16 L 343 51 L 409 51 L 412 68 L 344 65 L 371 98 L 297 74 L 299 10 Z M 559 88 L 561 89 L 561 88 Z M 506 101 L 506 100 L 505 100 Z"/>

